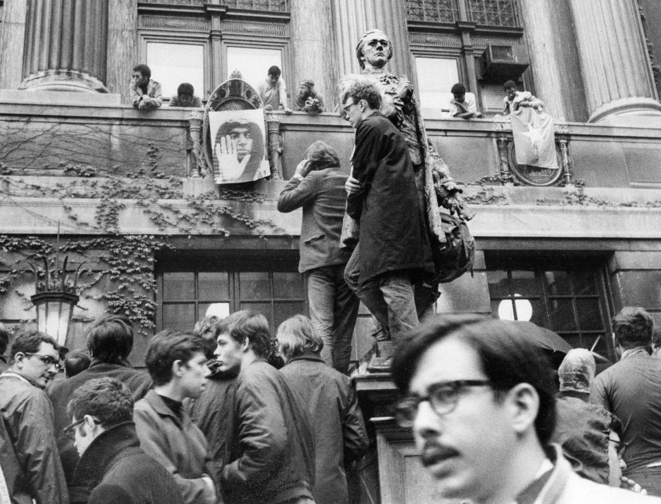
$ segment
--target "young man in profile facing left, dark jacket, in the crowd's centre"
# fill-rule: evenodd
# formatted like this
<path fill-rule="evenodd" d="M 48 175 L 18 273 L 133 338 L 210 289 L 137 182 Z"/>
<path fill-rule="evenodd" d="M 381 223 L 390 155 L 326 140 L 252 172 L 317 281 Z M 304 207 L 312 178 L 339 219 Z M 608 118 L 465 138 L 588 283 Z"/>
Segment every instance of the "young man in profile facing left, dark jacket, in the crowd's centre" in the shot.
<path fill-rule="evenodd" d="M 315 446 L 306 406 L 282 373 L 264 315 L 242 310 L 218 326 L 218 371 L 240 370 L 220 486 L 233 504 L 312 504 Z"/>

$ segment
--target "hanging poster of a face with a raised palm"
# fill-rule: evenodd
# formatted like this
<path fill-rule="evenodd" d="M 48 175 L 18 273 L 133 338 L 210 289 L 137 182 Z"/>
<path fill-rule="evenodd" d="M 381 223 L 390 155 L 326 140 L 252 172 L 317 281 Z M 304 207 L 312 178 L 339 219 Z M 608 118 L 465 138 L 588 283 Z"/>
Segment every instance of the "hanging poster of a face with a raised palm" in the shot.
<path fill-rule="evenodd" d="M 213 142 L 213 172 L 217 184 L 251 182 L 271 174 L 264 156 L 264 115 L 261 110 L 209 112 Z"/>

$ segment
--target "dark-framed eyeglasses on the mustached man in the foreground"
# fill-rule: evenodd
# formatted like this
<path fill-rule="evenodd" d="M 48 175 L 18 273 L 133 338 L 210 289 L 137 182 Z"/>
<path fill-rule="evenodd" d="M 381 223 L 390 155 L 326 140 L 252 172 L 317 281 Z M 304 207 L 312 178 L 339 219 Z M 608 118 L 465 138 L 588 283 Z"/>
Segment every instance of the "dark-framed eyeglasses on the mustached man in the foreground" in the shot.
<path fill-rule="evenodd" d="M 433 384 L 427 389 L 426 396 L 410 395 L 397 402 L 397 411 L 395 413 L 397 423 L 404 428 L 411 427 L 422 401 L 429 401 L 432 410 L 436 414 L 448 414 L 457 407 L 459 395 L 466 388 L 490 385 L 491 382 L 488 380 L 454 380 Z"/>

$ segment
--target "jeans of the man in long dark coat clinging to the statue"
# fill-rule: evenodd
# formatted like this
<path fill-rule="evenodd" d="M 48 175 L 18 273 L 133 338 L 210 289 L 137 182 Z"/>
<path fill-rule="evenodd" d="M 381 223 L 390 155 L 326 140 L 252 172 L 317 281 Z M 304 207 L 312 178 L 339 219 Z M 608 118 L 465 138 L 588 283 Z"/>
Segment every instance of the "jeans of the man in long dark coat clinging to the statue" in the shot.
<path fill-rule="evenodd" d="M 356 246 L 344 269 L 346 284 L 374 315 L 381 327 L 377 341 L 393 344 L 419 324 L 413 286 L 407 271 L 386 271 L 359 284 L 359 247 Z"/>

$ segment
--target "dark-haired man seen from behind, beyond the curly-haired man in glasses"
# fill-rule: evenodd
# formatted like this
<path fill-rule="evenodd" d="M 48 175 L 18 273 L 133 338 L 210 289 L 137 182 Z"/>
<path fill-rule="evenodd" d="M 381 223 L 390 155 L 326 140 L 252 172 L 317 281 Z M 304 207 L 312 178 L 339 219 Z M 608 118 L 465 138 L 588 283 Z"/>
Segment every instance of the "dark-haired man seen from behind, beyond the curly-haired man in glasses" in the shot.
<path fill-rule="evenodd" d="M 133 327 L 125 315 L 107 315 L 98 319 L 87 331 L 87 350 L 92 356 L 92 364 L 74 377 L 56 381 L 47 390 L 55 411 L 55 434 L 64 474 L 69 485 L 72 504 L 87 503 L 90 487 L 78 481 L 73 484 L 74 469 L 78 463 L 78 453 L 71 439 L 63 432 L 70 417 L 67 404 L 76 388 L 95 378 L 112 377 L 125 384 L 132 392 L 133 400 L 141 399 L 151 386 L 151 378 L 146 372 L 132 368 L 127 361 L 133 348 Z"/>

